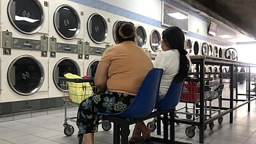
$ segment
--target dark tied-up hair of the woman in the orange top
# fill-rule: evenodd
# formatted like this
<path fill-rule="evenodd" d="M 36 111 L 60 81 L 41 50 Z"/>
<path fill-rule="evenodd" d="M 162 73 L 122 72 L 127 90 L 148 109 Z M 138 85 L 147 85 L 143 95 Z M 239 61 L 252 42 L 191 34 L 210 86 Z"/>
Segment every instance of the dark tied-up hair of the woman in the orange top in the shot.
<path fill-rule="evenodd" d="M 118 43 L 123 41 L 135 41 L 135 25 L 131 22 L 121 21 L 116 25 L 116 39 Z"/>

